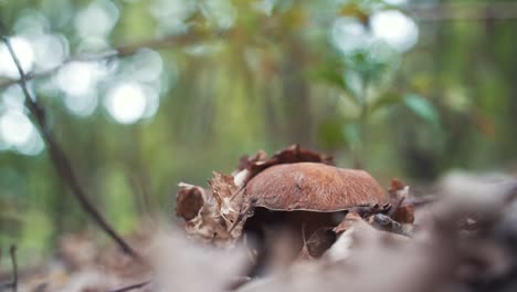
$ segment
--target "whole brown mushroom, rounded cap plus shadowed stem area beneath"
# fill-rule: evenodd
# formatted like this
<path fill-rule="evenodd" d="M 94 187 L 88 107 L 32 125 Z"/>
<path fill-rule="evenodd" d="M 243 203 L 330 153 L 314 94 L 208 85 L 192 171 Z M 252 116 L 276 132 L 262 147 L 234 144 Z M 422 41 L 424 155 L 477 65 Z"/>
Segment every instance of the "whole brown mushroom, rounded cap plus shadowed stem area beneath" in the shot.
<path fill-rule="evenodd" d="M 254 215 L 244 225 L 244 233 L 255 239 L 260 255 L 253 273 L 261 273 L 272 253 L 268 242 L 274 242 L 278 236 L 288 233 L 296 239 L 292 247 L 294 260 L 307 244 L 304 234 L 314 239 L 321 233 L 318 230 L 339 223 L 349 209 L 389 201 L 382 187 L 367 171 L 320 163 L 271 166 L 247 181 L 244 197 L 255 206 Z M 328 241 L 326 238 L 314 240 Z"/>

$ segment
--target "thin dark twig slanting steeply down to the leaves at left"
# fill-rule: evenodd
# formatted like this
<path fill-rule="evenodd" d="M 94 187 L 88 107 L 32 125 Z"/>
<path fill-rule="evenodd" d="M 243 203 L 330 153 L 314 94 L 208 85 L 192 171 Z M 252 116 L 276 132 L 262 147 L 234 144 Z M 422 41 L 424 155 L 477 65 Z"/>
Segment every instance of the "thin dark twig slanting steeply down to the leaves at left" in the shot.
<path fill-rule="evenodd" d="M 30 112 L 30 116 L 33 119 L 34 124 L 39 128 L 43 140 L 46 144 L 49 149 L 49 154 L 51 156 L 51 160 L 60 175 L 60 177 L 68 185 L 72 194 L 78 200 L 83 210 L 89 215 L 89 217 L 97 223 L 101 229 L 103 229 L 119 247 L 120 249 L 133 257 L 134 259 L 141 262 L 141 258 L 139 254 L 126 242 L 124 239 L 110 227 L 110 225 L 104 219 L 104 217 L 95 209 L 93 204 L 88 200 L 86 192 L 81 187 L 77 176 L 75 175 L 70 159 L 67 158 L 66 154 L 59 145 L 56 139 L 54 138 L 51 128 L 49 127 L 44 111 L 41 104 L 38 102 L 36 98 L 32 98 L 31 94 L 29 93 L 27 86 L 27 75 L 21 67 L 20 60 L 18 59 L 9 38 L 2 35 L 2 40 L 6 43 L 9 53 L 11 54 L 14 64 L 17 65 L 18 72 L 20 74 L 20 87 L 22 88 L 23 95 L 25 96 L 25 106 Z"/>

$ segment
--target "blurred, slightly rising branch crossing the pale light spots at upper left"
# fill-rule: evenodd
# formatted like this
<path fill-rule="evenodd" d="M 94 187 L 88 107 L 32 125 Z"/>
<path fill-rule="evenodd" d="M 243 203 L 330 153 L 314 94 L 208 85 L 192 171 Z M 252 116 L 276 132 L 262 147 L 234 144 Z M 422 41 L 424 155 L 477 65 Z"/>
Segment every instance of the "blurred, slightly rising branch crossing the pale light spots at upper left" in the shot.
<path fill-rule="evenodd" d="M 198 40 L 203 39 L 204 36 L 207 36 L 205 33 L 202 33 L 201 31 L 198 31 L 198 30 L 193 30 L 189 32 L 188 34 L 167 35 L 161 39 L 152 39 L 152 40 L 147 40 L 147 41 L 135 42 L 135 43 L 130 43 L 126 45 L 120 45 L 115 49 L 107 50 L 105 52 L 101 52 L 96 54 L 71 56 L 66 59 L 63 63 L 52 69 L 41 71 L 41 72 L 35 72 L 35 73 L 27 73 L 25 81 L 50 76 L 56 73 L 60 69 L 62 69 L 66 64 L 72 63 L 72 62 L 94 62 L 94 61 L 109 60 L 114 58 L 130 56 L 135 54 L 136 52 L 138 52 L 138 50 L 144 49 L 144 48 L 159 50 L 159 49 L 165 49 L 165 48 L 169 48 L 172 45 L 191 44 Z M 21 79 L 2 81 L 0 82 L 0 90 L 4 87 L 9 87 L 14 84 L 19 84 L 21 82 L 22 82 Z"/>

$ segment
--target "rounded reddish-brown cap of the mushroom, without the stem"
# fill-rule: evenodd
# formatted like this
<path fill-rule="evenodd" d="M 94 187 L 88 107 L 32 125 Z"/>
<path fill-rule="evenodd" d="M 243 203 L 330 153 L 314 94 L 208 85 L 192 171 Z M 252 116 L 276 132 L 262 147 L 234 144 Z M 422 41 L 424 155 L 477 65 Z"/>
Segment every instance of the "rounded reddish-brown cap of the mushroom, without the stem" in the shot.
<path fill-rule="evenodd" d="M 253 177 L 246 196 L 272 210 L 339 211 L 361 205 L 386 204 L 381 186 L 365 170 L 318 163 L 282 164 Z"/>

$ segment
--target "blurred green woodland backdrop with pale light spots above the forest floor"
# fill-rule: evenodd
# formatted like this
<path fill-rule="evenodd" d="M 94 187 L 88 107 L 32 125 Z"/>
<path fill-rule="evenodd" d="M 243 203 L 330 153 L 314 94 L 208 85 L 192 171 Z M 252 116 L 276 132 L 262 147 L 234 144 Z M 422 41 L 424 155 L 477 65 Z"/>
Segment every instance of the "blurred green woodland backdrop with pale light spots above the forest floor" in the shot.
<path fill-rule="evenodd" d="M 179 181 L 293 143 L 384 186 L 515 169 L 517 1 L 0 0 L 0 19 L 82 185 L 124 234 L 172 217 Z M 1 44 L 0 246 L 33 262 L 91 220 L 18 77 Z"/>

